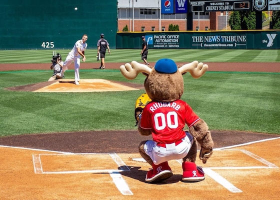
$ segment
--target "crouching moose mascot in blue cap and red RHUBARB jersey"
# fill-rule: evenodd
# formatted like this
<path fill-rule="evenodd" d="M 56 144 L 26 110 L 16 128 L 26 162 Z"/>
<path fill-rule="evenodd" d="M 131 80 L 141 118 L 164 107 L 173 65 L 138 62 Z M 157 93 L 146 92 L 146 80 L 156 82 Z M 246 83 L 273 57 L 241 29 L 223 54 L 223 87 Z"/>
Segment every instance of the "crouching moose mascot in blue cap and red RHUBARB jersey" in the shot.
<path fill-rule="evenodd" d="M 204 172 L 196 166 L 197 142 L 201 149 L 202 163 L 212 155 L 213 141 L 206 122 L 199 118 L 192 108 L 180 99 L 184 83 L 182 74 L 189 72 L 198 78 L 208 65 L 193 61 L 177 67 L 171 59 L 159 59 L 153 68 L 132 61 L 120 66 L 127 79 L 138 73 L 146 75 L 146 94 L 136 100 L 135 119 L 141 135 L 152 135 L 152 140 L 141 141 L 140 155 L 152 166 L 147 171 L 146 182 L 163 181 L 172 176 L 168 160 L 182 159 L 183 182 L 204 180 Z M 184 131 L 185 124 L 188 131 Z"/>

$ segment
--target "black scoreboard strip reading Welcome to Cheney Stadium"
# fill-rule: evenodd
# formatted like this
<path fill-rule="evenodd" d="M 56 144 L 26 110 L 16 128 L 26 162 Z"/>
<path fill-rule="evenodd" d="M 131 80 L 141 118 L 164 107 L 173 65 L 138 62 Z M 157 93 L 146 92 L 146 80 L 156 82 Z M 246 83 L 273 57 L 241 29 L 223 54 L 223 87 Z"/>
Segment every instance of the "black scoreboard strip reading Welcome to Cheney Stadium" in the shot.
<path fill-rule="evenodd" d="M 252 10 L 251 0 L 188 0 L 188 12 Z"/>

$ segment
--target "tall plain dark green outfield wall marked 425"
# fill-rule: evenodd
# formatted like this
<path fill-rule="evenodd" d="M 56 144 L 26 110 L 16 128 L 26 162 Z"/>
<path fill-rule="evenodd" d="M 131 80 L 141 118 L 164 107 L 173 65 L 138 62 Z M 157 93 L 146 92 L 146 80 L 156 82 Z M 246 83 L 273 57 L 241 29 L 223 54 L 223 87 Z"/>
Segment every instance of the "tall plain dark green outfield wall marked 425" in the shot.
<path fill-rule="evenodd" d="M 100 33 L 115 48 L 117 0 L 1 0 L 0 19 L 0 49 L 70 49 L 82 34 L 97 48 Z"/>

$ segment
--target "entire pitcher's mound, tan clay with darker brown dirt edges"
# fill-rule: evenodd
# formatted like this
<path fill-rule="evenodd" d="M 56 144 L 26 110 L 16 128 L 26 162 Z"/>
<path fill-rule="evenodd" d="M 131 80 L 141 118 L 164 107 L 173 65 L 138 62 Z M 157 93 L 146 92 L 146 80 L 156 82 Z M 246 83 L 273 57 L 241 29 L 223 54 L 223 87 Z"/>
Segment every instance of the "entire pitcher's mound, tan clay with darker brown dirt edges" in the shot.
<path fill-rule="evenodd" d="M 9 90 L 34 91 L 34 92 L 93 92 L 93 91 L 124 91 L 144 89 L 142 84 L 112 81 L 105 79 L 80 79 L 79 84 L 74 84 L 73 79 L 58 79 L 6 88 Z"/>

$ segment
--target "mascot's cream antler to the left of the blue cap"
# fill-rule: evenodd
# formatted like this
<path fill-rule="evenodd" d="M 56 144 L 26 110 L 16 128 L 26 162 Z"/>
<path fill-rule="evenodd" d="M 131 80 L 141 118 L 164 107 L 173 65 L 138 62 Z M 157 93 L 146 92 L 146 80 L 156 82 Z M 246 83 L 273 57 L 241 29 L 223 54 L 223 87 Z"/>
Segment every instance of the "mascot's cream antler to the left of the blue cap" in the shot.
<path fill-rule="evenodd" d="M 126 63 L 125 65 L 121 65 L 119 67 L 120 72 L 127 79 L 134 79 L 138 73 L 142 72 L 144 74 L 149 74 L 151 72 L 151 68 L 145 64 L 138 63 L 136 61 L 131 61 L 131 64 Z"/>

